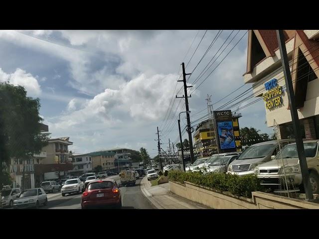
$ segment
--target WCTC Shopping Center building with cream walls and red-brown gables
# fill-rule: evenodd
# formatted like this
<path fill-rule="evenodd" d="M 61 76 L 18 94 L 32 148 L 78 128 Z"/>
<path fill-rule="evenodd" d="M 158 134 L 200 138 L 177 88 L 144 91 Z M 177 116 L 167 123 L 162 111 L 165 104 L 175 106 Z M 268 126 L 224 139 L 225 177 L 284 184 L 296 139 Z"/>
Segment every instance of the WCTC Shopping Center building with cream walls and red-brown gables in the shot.
<path fill-rule="evenodd" d="M 319 30 L 284 30 L 284 35 L 302 134 L 317 139 Z M 244 83 L 265 102 L 267 126 L 277 126 L 279 138 L 295 137 L 275 30 L 249 30 Z"/>

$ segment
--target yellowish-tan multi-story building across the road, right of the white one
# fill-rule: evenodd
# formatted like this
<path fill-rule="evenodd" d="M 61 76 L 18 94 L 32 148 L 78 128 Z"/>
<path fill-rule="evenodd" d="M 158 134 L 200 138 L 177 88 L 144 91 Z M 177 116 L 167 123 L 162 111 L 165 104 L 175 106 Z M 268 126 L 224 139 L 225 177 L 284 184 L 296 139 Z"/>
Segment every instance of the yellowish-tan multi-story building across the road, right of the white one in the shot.
<path fill-rule="evenodd" d="M 102 170 L 116 169 L 115 164 L 115 153 L 107 151 L 97 151 L 88 154 L 92 159 L 92 168 L 95 169 L 96 166 L 101 165 Z"/>

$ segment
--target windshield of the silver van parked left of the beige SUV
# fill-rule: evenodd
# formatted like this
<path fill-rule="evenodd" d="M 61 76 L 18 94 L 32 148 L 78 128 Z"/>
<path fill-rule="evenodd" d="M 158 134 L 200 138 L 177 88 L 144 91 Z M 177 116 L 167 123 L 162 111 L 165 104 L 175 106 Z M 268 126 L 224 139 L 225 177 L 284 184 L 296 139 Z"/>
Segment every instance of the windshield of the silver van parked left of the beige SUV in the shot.
<path fill-rule="evenodd" d="M 264 158 L 275 149 L 276 144 L 263 144 L 248 147 L 236 160 Z"/>

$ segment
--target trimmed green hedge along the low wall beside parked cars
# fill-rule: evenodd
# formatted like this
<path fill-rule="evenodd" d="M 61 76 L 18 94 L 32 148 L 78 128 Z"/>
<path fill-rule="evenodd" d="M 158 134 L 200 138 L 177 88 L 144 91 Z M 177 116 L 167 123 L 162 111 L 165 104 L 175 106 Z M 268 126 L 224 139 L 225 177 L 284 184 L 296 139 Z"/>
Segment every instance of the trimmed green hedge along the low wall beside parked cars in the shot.
<path fill-rule="evenodd" d="M 218 192 L 230 192 L 233 195 L 251 198 L 251 192 L 267 190 L 260 185 L 257 175 L 238 176 L 226 173 L 181 172 L 171 170 L 168 180 L 184 183 L 185 181 L 213 188 Z"/>

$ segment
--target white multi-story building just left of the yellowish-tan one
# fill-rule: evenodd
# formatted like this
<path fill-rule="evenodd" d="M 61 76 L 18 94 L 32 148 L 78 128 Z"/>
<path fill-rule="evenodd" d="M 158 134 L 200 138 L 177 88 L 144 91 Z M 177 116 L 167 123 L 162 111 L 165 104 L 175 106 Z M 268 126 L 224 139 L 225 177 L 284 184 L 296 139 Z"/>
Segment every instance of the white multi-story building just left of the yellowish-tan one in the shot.
<path fill-rule="evenodd" d="M 72 164 L 74 167 L 69 171 L 72 176 L 80 176 L 92 171 L 92 158 L 89 154 L 73 154 Z"/>

